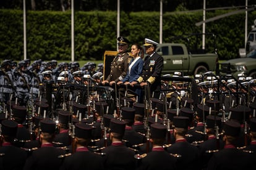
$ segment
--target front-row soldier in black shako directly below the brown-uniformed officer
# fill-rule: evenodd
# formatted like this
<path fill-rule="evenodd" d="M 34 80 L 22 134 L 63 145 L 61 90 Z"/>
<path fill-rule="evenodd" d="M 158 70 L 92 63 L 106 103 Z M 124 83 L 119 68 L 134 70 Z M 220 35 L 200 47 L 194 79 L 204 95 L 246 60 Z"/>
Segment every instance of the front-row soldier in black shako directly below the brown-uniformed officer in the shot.
<path fill-rule="evenodd" d="M 106 153 L 103 157 L 105 169 L 135 169 L 135 153 L 122 142 L 125 128 L 124 121 L 111 119 L 109 137 L 112 145 L 102 150 L 103 153 Z"/>

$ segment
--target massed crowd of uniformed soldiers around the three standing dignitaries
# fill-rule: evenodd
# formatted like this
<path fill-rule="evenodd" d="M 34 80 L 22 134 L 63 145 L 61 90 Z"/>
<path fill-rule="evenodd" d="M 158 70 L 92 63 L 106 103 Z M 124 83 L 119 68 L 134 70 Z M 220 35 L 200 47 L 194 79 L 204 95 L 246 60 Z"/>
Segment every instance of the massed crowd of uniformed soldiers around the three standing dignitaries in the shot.
<path fill-rule="evenodd" d="M 4 60 L 0 169 L 256 167 L 256 79 L 176 72 L 150 92 L 155 79 L 109 86 L 102 64 Z"/>

